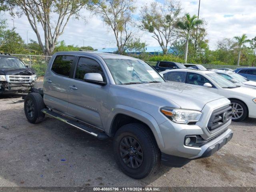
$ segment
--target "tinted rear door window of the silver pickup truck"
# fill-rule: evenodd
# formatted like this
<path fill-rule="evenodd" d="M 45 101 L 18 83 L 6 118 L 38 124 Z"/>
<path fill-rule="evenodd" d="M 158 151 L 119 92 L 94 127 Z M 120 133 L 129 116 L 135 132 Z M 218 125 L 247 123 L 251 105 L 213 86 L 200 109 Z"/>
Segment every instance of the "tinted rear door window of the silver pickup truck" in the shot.
<path fill-rule="evenodd" d="M 52 64 L 52 71 L 57 75 L 68 77 L 74 58 L 74 56 L 69 55 L 56 56 Z"/>

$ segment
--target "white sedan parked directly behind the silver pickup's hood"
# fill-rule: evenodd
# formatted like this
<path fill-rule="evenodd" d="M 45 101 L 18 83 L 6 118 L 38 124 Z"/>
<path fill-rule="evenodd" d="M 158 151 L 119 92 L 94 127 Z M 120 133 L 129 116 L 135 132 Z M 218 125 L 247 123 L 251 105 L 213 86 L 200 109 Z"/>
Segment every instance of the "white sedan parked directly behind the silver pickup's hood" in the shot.
<path fill-rule="evenodd" d="M 231 101 L 233 121 L 242 121 L 246 117 L 256 118 L 255 89 L 236 86 L 212 71 L 179 69 L 161 73 L 166 80 L 190 84 L 197 88 L 200 87 L 201 91 L 210 91 L 225 96 Z"/>

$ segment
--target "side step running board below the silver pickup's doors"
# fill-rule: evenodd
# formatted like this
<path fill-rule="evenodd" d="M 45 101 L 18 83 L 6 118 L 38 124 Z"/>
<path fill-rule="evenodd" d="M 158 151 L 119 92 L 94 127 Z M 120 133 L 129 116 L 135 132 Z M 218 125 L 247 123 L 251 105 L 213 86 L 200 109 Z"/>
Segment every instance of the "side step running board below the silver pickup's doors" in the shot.
<path fill-rule="evenodd" d="M 82 130 L 82 131 L 84 131 L 84 132 L 86 132 L 88 134 L 91 134 L 92 136 L 94 136 L 94 137 L 96 137 L 98 139 L 106 139 L 106 138 L 108 138 L 108 135 L 106 135 L 104 132 L 101 132 L 100 130 L 96 130 L 95 128 L 91 128 L 91 127 L 86 126 L 86 125 L 84 125 L 82 123 L 79 123 L 77 121 L 74 121 L 74 120 L 71 120 L 69 118 L 66 118 L 66 117 L 64 117 L 64 116 L 62 116 L 62 115 L 60 115 L 60 114 L 58 114 L 56 112 L 50 111 L 48 109 L 42 109 L 41 111 L 43 113 L 49 115 L 49 116 L 52 116 L 52 117 L 62 121 L 62 122 L 70 124 L 70 125 L 78 128 L 78 129 L 80 129 L 80 130 Z"/>

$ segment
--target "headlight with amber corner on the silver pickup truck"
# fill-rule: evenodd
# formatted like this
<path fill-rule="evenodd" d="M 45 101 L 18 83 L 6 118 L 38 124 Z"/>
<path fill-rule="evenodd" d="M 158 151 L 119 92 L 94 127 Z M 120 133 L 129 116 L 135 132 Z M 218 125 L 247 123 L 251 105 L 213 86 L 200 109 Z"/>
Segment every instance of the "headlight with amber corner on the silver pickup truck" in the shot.
<path fill-rule="evenodd" d="M 188 124 L 189 122 L 198 122 L 202 113 L 196 110 L 164 107 L 161 112 L 175 123 Z"/>

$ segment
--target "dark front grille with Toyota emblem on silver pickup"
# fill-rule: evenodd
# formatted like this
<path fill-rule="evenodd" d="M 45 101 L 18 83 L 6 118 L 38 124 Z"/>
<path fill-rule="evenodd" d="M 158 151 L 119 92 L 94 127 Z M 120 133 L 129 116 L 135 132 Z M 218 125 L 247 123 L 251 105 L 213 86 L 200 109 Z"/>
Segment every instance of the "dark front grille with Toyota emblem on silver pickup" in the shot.
<path fill-rule="evenodd" d="M 232 118 L 232 107 L 230 105 L 216 109 L 212 112 L 207 128 L 213 132 Z"/>

